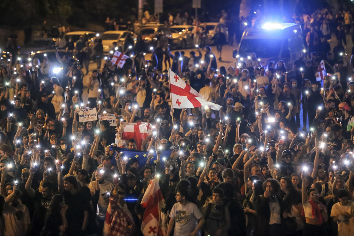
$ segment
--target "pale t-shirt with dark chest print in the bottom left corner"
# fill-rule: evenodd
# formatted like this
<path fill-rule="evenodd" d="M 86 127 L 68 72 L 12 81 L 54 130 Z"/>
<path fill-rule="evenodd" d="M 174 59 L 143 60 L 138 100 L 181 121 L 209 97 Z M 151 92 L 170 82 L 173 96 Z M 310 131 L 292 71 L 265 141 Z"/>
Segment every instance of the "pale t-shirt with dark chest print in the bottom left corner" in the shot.
<path fill-rule="evenodd" d="M 17 207 L 7 205 L 4 210 L 5 218 L 5 235 L 6 236 L 19 236 L 24 235 L 23 230 L 25 224 L 30 224 L 28 208 L 21 203 Z"/>

